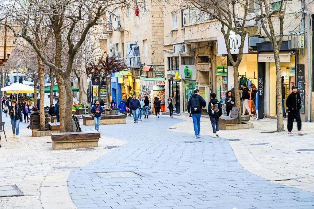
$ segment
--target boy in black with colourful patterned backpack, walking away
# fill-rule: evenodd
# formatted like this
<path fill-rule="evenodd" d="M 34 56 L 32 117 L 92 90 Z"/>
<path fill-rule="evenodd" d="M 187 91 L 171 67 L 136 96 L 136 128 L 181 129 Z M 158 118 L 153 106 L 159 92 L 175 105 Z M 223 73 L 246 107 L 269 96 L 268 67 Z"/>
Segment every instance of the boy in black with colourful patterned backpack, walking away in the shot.
<path fill-rule="evenodd" d="M 210 117 L 210 123 L 213 127 L 213 137 L 219 136 L 219 118 L 222 115 L 222 109 L 220 102 L 216 99 L 216 94 L 210 94 L 210 102 L 208 103 L 208 114 Z"/>

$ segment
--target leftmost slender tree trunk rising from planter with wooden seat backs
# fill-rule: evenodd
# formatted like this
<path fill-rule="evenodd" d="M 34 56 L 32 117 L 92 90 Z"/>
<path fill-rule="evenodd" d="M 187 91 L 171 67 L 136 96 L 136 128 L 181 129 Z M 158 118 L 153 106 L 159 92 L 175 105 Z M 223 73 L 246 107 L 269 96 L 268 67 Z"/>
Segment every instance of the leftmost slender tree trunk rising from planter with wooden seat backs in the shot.
<path fill-rule="evenodd" d="M 41 61 L 41 58 L 37 56 L 37 62 L 38 62 L 38 80 L 39 80 L 39 94 L 40 94 L 40 130 L 44 131 L 46 130 L 46 125 L 45 125 L 45 80 L 44 80 L 44 65 Z"/>

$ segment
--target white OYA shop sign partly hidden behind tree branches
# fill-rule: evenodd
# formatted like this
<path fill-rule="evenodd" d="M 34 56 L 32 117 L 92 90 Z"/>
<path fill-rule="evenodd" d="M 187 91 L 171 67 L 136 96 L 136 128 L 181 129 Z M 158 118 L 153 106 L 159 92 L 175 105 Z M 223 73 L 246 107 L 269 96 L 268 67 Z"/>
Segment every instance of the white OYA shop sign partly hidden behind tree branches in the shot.
<path fill-rule="evenodd" d="M 239 54 L 240 45 L 242 43 L 240 35 L 230 35 L 228 38 L 231 54 Z M 217 37 L 218 54 L 228 54 L 224 36 Z M 246 34 L 244 40 L 243 54 L 249 53 L 249 38 Z"/>

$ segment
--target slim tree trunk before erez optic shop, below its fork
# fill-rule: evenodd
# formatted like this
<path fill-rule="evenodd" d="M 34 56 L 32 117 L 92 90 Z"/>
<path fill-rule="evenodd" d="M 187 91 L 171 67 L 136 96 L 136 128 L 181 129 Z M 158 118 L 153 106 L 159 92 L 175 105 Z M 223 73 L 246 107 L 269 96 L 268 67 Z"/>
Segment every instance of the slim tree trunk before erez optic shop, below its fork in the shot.
<path fill-rule="evenodd" d="M 279 47 L 273 46 L 276 64 L 276 103 L 277 103 L 277 131 L 284 131 L 284 118 L 282 115 L 282 94 L 281 94 L 281 69 L 279 60 Z"/>

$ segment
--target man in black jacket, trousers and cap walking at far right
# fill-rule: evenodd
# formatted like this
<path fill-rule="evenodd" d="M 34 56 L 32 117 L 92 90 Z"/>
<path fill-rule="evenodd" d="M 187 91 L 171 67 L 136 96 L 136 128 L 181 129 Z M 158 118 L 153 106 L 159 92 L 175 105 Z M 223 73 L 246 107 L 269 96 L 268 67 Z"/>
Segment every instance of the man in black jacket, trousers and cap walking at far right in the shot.
<path fill-rule="evenodd" d="M 301 131 L 301 117 L 300 117 L 300 109 L 301 109 L 301 97 L 298 93 L 298 87 L 295 85 L 292 86 L 292 93 L 288 96 L 286 101 L 286 106 L 288 108 L 288 135 L 293 136 L 292 128 L 293 128 L 293 120 L 295 119 L 298 124 L 298 135 L 304 134 Z"/>

